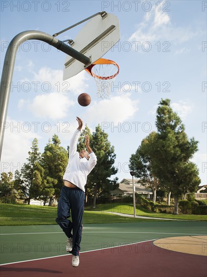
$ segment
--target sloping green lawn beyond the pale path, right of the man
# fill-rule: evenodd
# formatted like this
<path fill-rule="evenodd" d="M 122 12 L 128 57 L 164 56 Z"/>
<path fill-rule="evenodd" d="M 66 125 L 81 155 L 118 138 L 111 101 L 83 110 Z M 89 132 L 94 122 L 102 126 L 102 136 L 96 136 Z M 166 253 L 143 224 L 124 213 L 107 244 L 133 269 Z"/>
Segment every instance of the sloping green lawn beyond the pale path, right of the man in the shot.
<path fill-rule="evenodd" d="M 99 211 L 99 212 L 114 212 L 122 214 L 134 214 L 133 203 L 107 203 L 98 204 L 96 208 L 93 209 L 92 206 L 85 207 L 86 211 Z M 153 213 L 143 209 L 142 206 L 136 205 L 136 215 L 152 218 L 163 218 L 163 219 L 179 219 L 179 220 L 207 220 L 206 215 L 172 215 L 172 214 L 161 214 Z"/>

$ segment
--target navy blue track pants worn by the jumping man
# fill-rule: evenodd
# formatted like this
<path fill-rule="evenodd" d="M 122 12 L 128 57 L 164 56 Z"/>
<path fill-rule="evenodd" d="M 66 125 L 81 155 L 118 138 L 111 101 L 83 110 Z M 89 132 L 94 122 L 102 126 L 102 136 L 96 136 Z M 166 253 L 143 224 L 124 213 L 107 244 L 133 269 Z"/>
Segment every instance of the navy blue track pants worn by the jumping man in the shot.
<path fill-rule="evenodd" d="M 79 256 L 80 250 L 84 200 L 85 194 L 81 189 L 62 187 L 58 201 L 56 222 L 68 238 L 73 238 L 73 248 L 70 253 L 75 256 Z M 72 217 L 72 222 L 68 220 L 70 216 Z"/>

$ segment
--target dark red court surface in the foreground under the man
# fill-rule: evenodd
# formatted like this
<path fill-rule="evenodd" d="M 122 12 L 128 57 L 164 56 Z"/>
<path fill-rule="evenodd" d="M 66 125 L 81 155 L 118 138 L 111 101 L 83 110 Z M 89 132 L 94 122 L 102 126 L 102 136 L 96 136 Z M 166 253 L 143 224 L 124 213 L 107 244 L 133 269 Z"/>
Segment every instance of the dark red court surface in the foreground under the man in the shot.
<path fill-rule="evenodd" d="M 2 265 L 1 277 L 206 277 L 206 257 L 161 249 L 153 241 Z"/>

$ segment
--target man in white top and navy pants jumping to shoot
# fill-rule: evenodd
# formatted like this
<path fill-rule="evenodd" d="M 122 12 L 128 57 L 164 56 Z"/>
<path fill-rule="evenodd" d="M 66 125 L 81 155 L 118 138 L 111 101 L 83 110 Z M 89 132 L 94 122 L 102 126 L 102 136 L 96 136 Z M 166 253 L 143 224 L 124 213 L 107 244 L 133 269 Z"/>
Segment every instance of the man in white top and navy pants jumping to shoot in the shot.
<path fill-rule="evenodd" d="M 60 192 L 56 222 L 68 237 L 66 251 L 72 256 L 72 266 L 79 265 L 79 250 L 82 235 L 82 217 L 84 211 L 85 184 L 87 175 L 96 165 L 96 156 L 89 146 L 89 137 L 85 135 L 86 150 L 77 152 L 77 142 L 83 122 L 79 117 L 78 128 L 70 142 L 69 160 L 63 175 L 64 186 Z M 67 218 L 72 217 L 72 222 Z M 72 234 L 71 234 L 72 231 Z"/>

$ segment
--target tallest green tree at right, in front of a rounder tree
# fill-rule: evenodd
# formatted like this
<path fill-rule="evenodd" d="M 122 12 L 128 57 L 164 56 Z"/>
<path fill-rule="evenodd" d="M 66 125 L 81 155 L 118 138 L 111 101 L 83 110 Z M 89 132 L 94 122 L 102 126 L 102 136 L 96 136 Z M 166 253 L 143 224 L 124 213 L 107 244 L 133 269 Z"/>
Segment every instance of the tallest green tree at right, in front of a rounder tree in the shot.
<path fill-rule="evenodd" d="M 196 165 L 189 160 L 197 151 L 198 142 L 187 137 L 179 116 L 170 107 L 170 100 L 161 100 L 157 108 L 157 135 L 151 145 L 153 172 L 160 183 L 167 186 L 175 200 L 174 214 L 178 214 L 178 200 L 182 193 L 194 192 L 200 183 Z"/>

